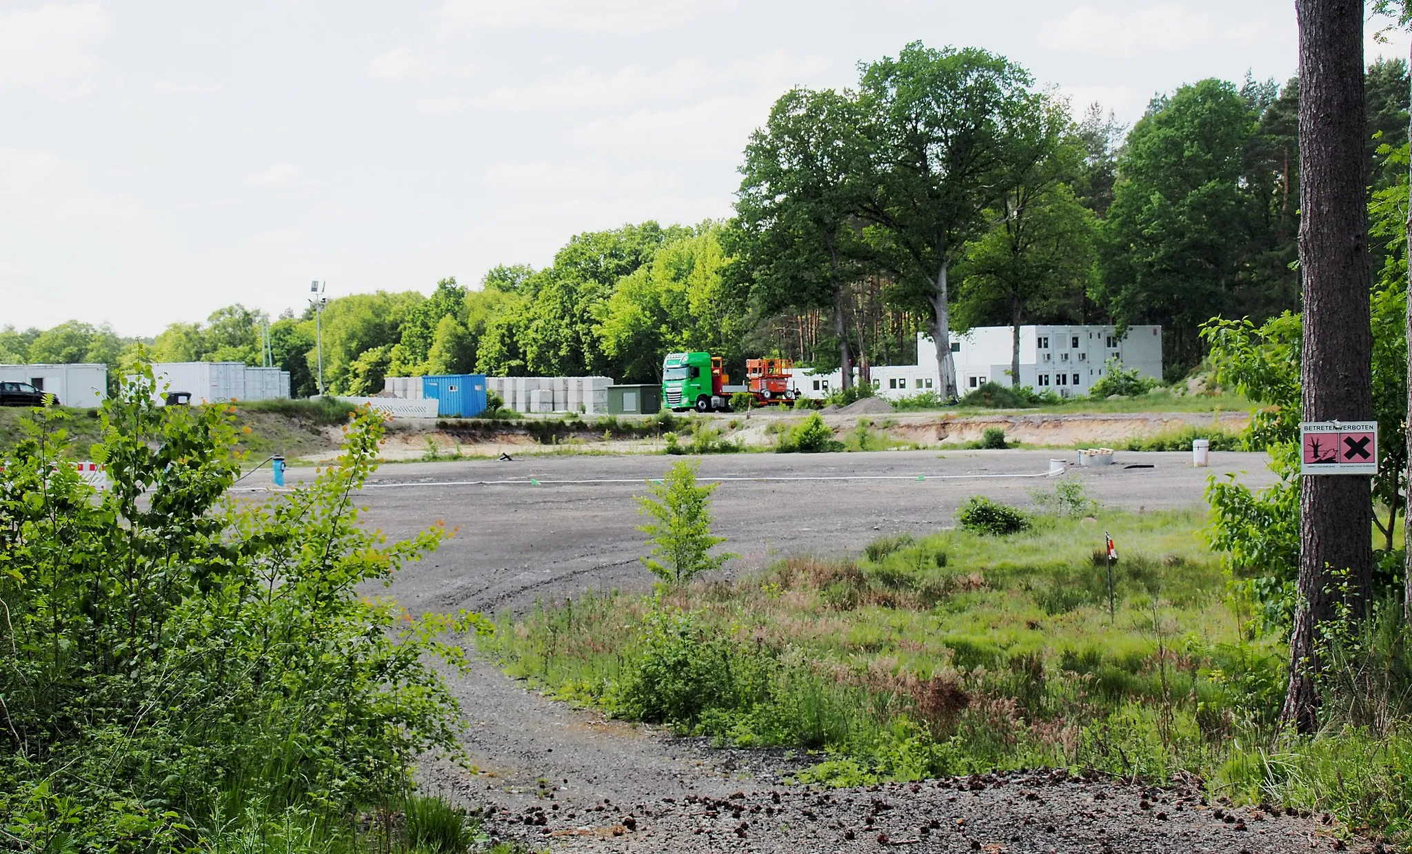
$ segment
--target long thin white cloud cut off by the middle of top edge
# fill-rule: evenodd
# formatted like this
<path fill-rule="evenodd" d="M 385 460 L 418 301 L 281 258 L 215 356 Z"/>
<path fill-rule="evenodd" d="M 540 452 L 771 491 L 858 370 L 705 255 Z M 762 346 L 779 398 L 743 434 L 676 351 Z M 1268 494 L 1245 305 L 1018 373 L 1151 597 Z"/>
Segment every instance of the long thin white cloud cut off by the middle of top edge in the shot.
<path fill-rule="evenodd" d="M 641 35 L 738 7 L 740 0 L 446 0 L 441 17 L 452 25 L 554 27 Z"/>

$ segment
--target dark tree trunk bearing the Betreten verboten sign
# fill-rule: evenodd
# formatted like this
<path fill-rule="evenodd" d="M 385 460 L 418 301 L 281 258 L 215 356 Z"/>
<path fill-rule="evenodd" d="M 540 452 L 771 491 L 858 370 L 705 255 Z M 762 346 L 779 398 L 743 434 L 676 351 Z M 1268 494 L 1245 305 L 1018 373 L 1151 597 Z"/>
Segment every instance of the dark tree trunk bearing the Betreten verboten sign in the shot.
<path fill-rule="evenodd" d="M 1363 157 L 1363 3 L 1296 0 L 1299 17 L 1299 264 L 1305 421 L 1372 418 L 1367 200 Z M 1333 615 L 1334 572 L 1350 570 L 1354 613 L 1372 577 L 1371 479 L 1303 477 L 1299 596 L 1284 723 L 1317 727 L 1317 627 Z"/>

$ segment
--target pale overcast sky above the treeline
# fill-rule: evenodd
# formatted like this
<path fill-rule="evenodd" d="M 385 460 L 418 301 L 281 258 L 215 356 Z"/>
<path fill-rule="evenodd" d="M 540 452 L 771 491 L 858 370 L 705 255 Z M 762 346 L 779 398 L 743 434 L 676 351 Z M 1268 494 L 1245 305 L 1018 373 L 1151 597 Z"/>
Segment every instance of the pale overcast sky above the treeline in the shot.
<path fill-rule="evenodd" d="M 1291 0 L 0 0 L 0 326 L 155 335 L 723 217 L 775 97 L 914 40 L 1125 123 L 1296 66 Z"/>

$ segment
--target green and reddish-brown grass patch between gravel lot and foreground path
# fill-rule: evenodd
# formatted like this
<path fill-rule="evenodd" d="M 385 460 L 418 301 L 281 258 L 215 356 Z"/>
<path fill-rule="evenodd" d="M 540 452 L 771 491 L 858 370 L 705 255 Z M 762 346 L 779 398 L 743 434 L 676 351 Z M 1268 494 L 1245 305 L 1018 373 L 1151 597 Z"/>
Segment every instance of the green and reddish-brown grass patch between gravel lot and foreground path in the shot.
<path fill-rule="evenodd" d="M 1409 837 L 1412 738 L 1278 735 L 1285 646 L 1240 630 L 1204 514 L 1079 498 L 1007 536 L 890 535 L 856 559 L 503 614 L 481 645 L 561 699 L 723 744 L 819 751 L 808 782 L 1192 774 L 1237 800 Z M 1123 555 L 1111 620 L 1106 531 Z"/>

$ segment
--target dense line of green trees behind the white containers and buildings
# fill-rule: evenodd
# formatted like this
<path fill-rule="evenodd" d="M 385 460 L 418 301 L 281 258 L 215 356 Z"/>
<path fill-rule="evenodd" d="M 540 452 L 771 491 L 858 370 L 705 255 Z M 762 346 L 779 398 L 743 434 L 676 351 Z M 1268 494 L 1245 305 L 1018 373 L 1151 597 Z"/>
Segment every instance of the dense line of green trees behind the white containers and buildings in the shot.
<path fill-rule="evenodd" d="M 1298 79 L 1206 79 L 1124 128 L 1099 104 L 1073 120 L 1004 58 L 908 45 L 867 65 L 856 90 L 785 93 L 746 147 L 729 220 L 586 231 L 541 270 L 330 299 L 325 384 L 655 381 L 681 349 L 736 370 L 757 354 L 832 370 L 911 361 L 916 332 L 1035 322 L 1161 323 L 1175 378 L 1203 357 L 1211 316 L 1299 309 L 1298 100 Z M 1404 61 L 1368 66 L 1365 121 L 1371 192 L 1406 143 Z M 0 361 L 102 361 L 114 381 L 140 346 L 164 361 L 260 364 L 264 325 L 294 392 L 316 392 L 312 305 L 268 318 L 234 303 L 141 340 L 76 320 L 6 326 Z"/>

